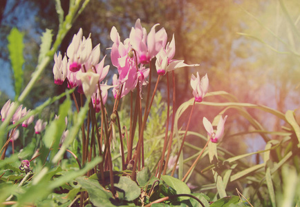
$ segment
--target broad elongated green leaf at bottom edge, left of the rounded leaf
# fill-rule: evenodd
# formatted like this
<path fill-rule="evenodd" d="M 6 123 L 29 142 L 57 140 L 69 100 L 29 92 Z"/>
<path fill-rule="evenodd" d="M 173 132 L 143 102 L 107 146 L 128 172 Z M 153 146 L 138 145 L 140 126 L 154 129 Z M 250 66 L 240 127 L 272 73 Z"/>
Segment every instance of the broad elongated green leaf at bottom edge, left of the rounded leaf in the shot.
<path fill-rule="evenodd" d="M 97 180 L 88 179 L 88 177 L 77 177 L 76 181 L 88 191 L 88 196 L 94 206 L 115 206 L 111 204 L 110 199 L 113 195 L 107 192 Z"/>

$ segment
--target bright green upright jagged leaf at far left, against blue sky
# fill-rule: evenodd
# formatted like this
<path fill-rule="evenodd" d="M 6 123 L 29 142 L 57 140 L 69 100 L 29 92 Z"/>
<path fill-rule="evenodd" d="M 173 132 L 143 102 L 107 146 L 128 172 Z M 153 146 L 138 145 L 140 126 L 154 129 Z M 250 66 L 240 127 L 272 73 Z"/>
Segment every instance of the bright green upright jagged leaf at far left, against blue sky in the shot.
<path fill-rule="evenodd" d="M 10 52 L 10 61 L 12 63 L 12 71 L 15 77 L 15 100 L 19 97 L 21 93 L 22 83 L 23 83 L 23 70 L 22 66 L 24 63 L 24 34 L 19 32 L 17 28 L 12 28 L 10 34 L 8 35 L 8 50 Z"/>

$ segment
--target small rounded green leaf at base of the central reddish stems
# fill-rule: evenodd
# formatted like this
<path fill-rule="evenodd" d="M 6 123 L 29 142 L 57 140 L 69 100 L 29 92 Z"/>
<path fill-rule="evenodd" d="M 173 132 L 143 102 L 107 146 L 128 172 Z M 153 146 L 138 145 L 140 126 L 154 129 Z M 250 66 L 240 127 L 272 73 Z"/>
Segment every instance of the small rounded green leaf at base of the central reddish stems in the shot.
<path fill-rule="evenodd" d="M 115 188 L 117 188 L 119 199 L 133 201 L 140 196 L 140 188 L 135 181 L 128 177 L 120 177 L 118 183 L 115 184 Z"/>

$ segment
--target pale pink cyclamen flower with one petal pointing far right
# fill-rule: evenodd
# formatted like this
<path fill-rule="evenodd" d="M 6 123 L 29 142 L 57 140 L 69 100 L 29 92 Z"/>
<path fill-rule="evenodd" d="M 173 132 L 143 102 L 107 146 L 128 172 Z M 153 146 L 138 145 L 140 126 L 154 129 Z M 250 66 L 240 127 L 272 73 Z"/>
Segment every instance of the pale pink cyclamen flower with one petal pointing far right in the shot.
<path fill-rule="evenodd" d="M 182 67 L 194 67 L 199 64 L 188 65 L 184 60 L 173 59 L 175 55 L 175 39 L 174 34 L 171 42 L 167 43 L 166 48 L 161 48 L 160 52 L 156 55 L 156 70 L 158 75 L 165 75 L 167 72 Z"/>

